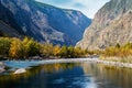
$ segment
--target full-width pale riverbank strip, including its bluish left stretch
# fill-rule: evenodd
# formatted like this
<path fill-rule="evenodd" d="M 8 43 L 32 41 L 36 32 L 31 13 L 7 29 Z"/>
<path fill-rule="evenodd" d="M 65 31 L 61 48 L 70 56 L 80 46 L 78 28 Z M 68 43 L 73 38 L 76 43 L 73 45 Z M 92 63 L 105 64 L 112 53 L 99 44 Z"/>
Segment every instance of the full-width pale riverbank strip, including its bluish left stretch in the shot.
<path fill-rule="evenodd" d="M 15 70 L 20 68 L 26 69 L 31 66 L 37 66 L 37 65 L 44 65 L 44 64 L 84 63 L 84 62 L 103 64 L 103 65 L 116 66 L 116 67 L 132 68 L 132 64 L 130 63 L 102 61 L 102 59 L 95 57 L 95 58 L 65 58 L 65 59 L 62 58 L 62 59 L 45 59 L 45 61 L 6 61 L 6 62 L 0 62 L 0 73 L 4 72 L 6 66 L 11 67 Z"/>

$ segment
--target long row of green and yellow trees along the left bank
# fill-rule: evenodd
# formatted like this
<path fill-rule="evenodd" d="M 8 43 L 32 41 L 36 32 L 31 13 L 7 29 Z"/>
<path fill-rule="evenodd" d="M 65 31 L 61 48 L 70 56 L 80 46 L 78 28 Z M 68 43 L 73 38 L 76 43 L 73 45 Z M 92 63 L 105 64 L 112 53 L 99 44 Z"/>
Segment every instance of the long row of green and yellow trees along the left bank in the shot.
<path fill-rule="evenodd" d="M 50 43 L 38 43 L 33 38 L 24 37 L 0 37 L 0 57 L 6 58 L 29 58 L 32 56 L 41 57 L 81 57 L 86 53 L 79 47 L 59 46 Z"/>

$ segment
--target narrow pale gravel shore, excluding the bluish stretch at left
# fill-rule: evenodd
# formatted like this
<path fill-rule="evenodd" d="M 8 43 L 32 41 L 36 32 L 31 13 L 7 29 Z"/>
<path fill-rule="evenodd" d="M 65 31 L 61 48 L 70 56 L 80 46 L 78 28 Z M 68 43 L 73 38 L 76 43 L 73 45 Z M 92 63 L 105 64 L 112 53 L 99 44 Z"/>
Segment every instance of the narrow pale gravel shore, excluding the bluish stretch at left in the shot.
<path fill-rule="evenodd" d="M 54 63 L 81 63 L 81 62 L 92 62 L 92 63 L 105 64 L 105 65 L 109 65 L 109 66 L 132 68 L 132 64 L 130 64 L 130 63 L 108 62 L 108 61 L 101 61 L 101 59 L 98 59 L 98 58 L 48 59 L 48 61 L 43 61 L 42 64 L 54 64 Z"/>

